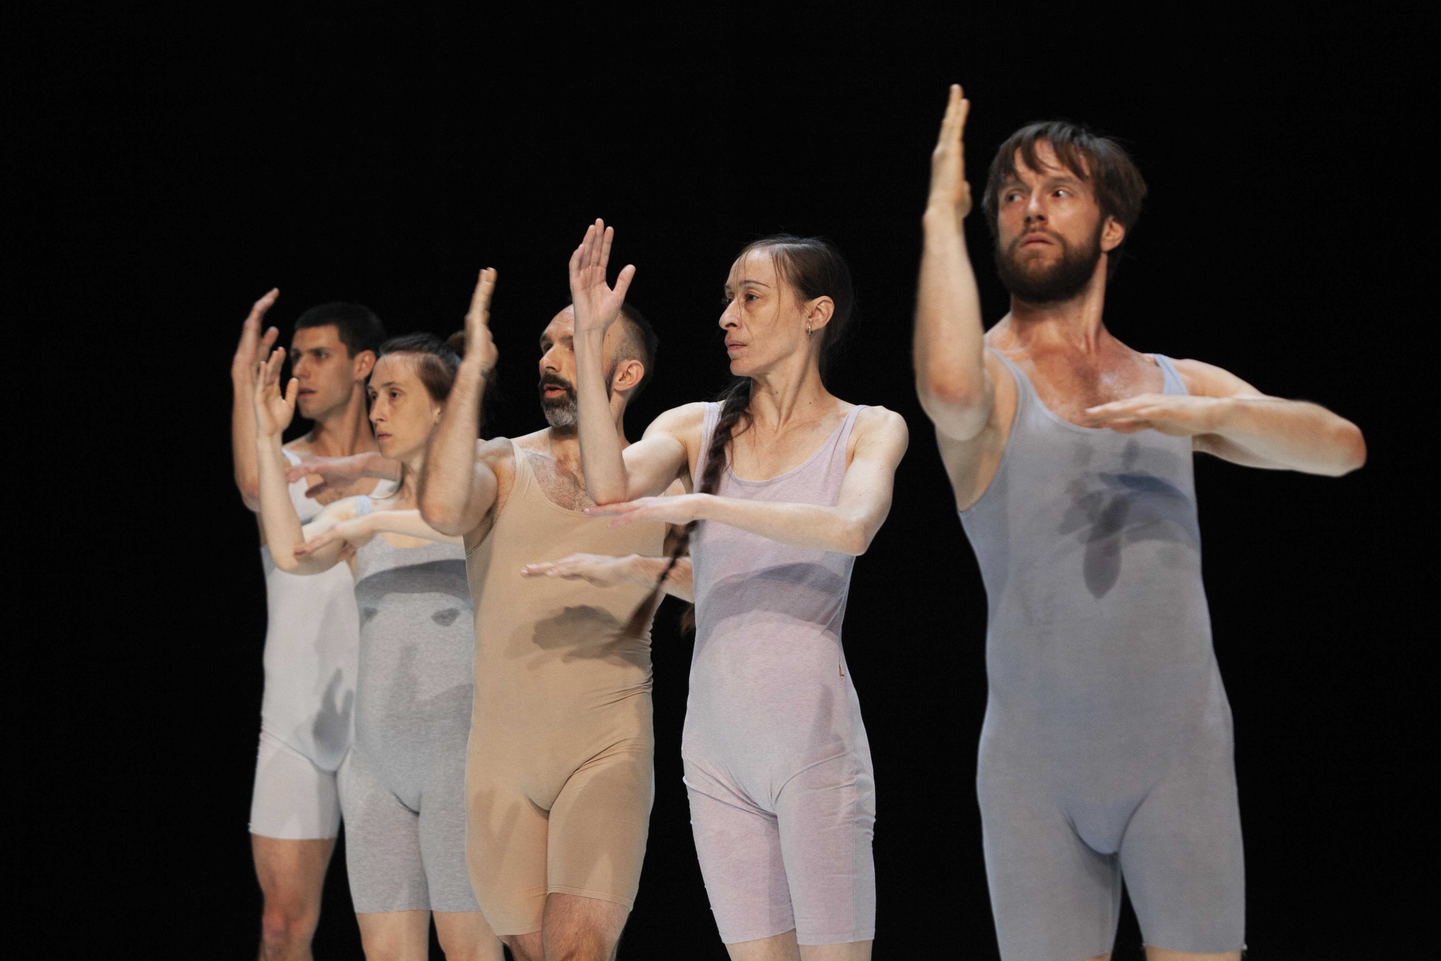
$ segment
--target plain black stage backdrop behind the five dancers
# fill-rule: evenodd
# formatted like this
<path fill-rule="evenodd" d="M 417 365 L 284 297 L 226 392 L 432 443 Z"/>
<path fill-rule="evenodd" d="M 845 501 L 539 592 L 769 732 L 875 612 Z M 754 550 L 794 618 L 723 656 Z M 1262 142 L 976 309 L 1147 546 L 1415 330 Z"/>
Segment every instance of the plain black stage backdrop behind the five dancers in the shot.
<path fill-rule="evenodd" d="M 1418 30 L 1370 4 L 1326 20 L 1209 4 L 53 13 L 22 78 L 35 135 L 9 153 L 29 164 L 13 197 L 27 226 L 7 242 L 13 265 L 33 261 L 13 323 L 42 347 L 36 396 L 73 403 L 45 442 L 84 448 L 58 471 L 69 500 L 46 506 L 71 533 L 48 568 L 71 627 L 46 628 L 55 643 L 13 683 L 59 738 L 17 754 L 29 803 L 78 841 L 58 857 L 37 839 L 29 862 L 56 942 L 254 957 L 265 605 L 228 448 L 249 304 L 280 287 L 285 343 L 326 300 L 448 334 L 493 265 L 488 429 L 520 434 L 542 424 L 536 337 L 566 303 L 566 258 L 604 216 L 661 337 L 633 437 L 725 383 L 719 292 L 741 245 L 784 229 L 849 255 L 863 324 L 833 390 L 912 431 L 846 622 L 879 785 L 876 957 L 996 957 L 973 781 L 986 598 L 909 363 L 929 151 L 958 81 L 977 189 L 1000 140 L 1036 118 L 1134 150 L 1151 195 L 1107 304 L 1125 343 L 1366 431 L 1370 461 L 1343 480 L 1196 464 L 1249 942 L 1257 958 L 1434 948 L 1425 634 L 1408 607 L 1425 594 L 1406 549 L 1431 513 L 1408 503 L 1402 458 L 1421 435 L 1401 432 L 1411 388 L 1395 363 L 1419 317 L 1396 317 L 1389 246 L 1431 193 L 1414 160 L 1396 164 L 1417 154 L 1398 138 L 1396 37 Z M 968 238 L 994 321 L 1006 297 L 978 216 Z M 63 382 L 76 354 L 78 403 Z M 690 640 L 676 615 L 656 630 L 656 808 L 621 957 L 723 957 L 680 784 Z M 321 961 L 359 957 L 349 911 L 337 860 Z M 1137 941 L 1127 921 L 1118 957 Z"/>

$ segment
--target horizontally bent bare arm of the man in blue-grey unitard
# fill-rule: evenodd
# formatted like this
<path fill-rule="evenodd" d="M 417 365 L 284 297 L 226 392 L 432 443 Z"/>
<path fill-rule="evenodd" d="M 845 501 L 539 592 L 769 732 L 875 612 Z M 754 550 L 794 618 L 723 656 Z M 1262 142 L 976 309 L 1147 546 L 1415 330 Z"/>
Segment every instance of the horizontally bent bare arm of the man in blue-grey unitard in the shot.
<path fill-rule="evenodd" d="M 1192 448 L 1245 467 L 1340 477 L 1366 462 L 1355 424 L 1310 401 L 1271 398 L 1199 360 L 1177 360 L 1189 396 L 1143 393 L 1089 408 L 1094 426 L 1190 437 Z"/>

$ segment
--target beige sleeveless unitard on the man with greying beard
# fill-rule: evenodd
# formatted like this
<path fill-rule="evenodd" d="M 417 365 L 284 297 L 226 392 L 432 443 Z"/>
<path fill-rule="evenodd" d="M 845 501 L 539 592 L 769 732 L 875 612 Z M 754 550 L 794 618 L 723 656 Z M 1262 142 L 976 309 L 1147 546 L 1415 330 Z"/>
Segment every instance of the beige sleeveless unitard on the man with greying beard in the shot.
<path fill-rule="evenodd" d="M 656 556 L 664 524 L 610 530 L 552 503 L 527 454 L 494 527 L 465 558 L 476 705 L 465 857 L 496 934 L 540 929 L 548 893 L 635 902 L 654 797 L 650 640 L 621 637 L 648 591 L 522 578 L 569 553 Z"/>

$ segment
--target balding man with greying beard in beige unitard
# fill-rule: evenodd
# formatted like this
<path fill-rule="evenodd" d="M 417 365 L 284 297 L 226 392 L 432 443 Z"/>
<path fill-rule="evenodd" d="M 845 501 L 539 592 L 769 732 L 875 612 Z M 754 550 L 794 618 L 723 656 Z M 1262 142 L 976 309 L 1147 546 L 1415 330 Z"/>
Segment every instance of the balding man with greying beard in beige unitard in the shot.
<path fill-rule="evenodd" d="M 575 317 L 540 337 L 550 426 L 477 444 L 491 271 L 467 317 L 467 350 L 431 439 L 419 506 L 465 539 L 476 607 L 476 706 L 467 759 L 467 860 L 486 919 L 517 961 L 614 957 L 635 899 L 654 794 L 650 641 L 623 637 L 648 591 L 522 578 L 575 553 L 660 555 L 661 523 L 610 530 L 581 475 Z M 611 412 L 644 385 L 654 334 L 635 311 L 607 340 Z M 651 581 L 654 584 L 654 581 Z M 648 631 L 647 631 L 648 635 Z"/>

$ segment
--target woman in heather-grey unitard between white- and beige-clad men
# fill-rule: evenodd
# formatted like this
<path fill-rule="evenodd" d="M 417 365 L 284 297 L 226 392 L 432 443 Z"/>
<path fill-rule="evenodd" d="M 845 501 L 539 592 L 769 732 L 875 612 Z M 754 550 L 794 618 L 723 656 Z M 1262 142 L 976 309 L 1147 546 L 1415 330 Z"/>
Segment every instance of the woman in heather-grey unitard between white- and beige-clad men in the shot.
<path fill-rule="evenodd" d="M 425 445 L 460 356 L 429 334 L 382 347 L 370 419 L 382 454 L 403 464 L 401 486 L 386 499 L 336 501 L 304 530 L 284 487 L 280 435 L 294 412 L 294 382 L 281 396 L 282 357 L 275 352 L 256 377 L 261 520 L 284 569 L 354 565 L 360 660 L 343 787 L 346 866 L 366 954 L 424 958 L 434 913 L 447 958 L 499 961 L 500 942 L 465 870 L 474 635 L 464 547 L 415 510 Z"/>

